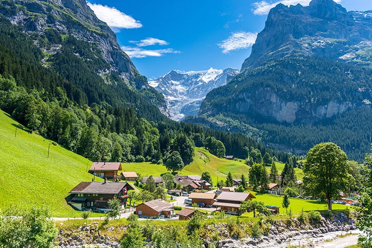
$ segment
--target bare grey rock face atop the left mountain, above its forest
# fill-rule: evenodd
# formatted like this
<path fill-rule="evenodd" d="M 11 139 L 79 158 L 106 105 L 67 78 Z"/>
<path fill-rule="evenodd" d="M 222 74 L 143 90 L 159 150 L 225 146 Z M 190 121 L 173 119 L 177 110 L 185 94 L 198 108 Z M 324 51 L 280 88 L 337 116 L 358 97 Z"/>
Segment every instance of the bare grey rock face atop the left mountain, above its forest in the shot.
<path fill-rule="evenodd" d="M 62 36 L 72 35 L 79 40 L 96 45 L 100 55 L 110 65 L 96 71 L 101 76 L 116 72 L 124 81 L 137 89 L 148 87 L 129 57 L 121 50 L 116 35 L 106 23 L 100 21 L 85 0 L 13 0 L 2 1 L 0 13 L 12 24 L 22 26 L 29 35 L 45 35 L 55 29 Z M 45 47 L 40 39 L 35 43 L 48 53 L 57 52 L 61 46 Z M 47 61 L 45 58 L 44 62 Z M 109 83 L 109 82 L 108 82 Z"/>

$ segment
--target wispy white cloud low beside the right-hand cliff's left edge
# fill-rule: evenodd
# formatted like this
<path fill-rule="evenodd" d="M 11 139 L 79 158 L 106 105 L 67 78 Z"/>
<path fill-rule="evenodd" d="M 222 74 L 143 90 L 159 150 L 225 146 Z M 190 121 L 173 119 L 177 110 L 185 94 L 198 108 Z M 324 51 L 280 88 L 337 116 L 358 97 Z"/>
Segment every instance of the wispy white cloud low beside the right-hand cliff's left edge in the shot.
<path fill-rule="evenodd" d="M 257 33 L 238 32 L 232 34 L 228 39 L 217 44 L 223 49 L 223 53 L 229 53 L 232 50 L 239 50 L 251 47 L 256 41 Z"/>

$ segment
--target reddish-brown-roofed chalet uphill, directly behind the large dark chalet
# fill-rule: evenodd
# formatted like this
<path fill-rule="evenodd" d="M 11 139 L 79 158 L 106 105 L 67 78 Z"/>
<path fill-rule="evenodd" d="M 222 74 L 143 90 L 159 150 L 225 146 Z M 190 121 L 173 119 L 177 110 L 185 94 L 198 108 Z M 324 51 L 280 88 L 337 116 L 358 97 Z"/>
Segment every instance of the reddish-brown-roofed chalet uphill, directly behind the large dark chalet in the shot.
<path fill-rule="evenodd" d="M 96 177 L 115 181 L 118 179 L 119 170 L 122 170 L 122 164 L 120 162 L 93 162 L 88 172 Z"/>

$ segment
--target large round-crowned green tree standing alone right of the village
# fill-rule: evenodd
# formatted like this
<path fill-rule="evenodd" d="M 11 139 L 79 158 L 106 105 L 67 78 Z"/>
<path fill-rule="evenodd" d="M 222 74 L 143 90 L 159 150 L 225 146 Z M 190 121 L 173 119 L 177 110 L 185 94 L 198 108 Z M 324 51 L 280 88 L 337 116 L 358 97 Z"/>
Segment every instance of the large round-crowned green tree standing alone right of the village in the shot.
<path fill-rule="evenodd" d="M 349 163 L 346 153 L 334 143 L 320 143 L 311 148 L 304 166 L 304 186 L 309 196 L 326 198 L 332 210 L 332 198 L 348 189 Z"/>

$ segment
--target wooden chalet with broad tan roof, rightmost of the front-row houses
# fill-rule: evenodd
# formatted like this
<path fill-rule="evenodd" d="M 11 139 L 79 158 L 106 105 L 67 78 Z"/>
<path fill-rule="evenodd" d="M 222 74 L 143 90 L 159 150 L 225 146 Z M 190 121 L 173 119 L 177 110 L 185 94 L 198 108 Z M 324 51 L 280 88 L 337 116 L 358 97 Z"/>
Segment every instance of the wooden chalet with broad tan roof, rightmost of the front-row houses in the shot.
<path fill-rule="evenodd" d="M 217 210 L 225 211 L 225 213 L 242 214 L 239 210 L 240 205 L 243 201 L 251 200 L 252 198 L 255 197 L 250 193 L 223 191 L 216 198 L 213 206 L 216 207 Z"/>

